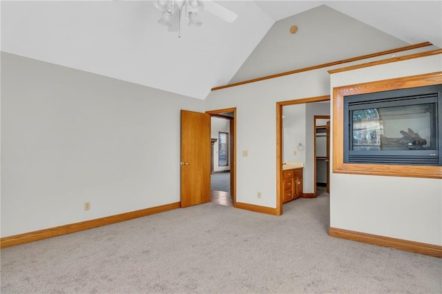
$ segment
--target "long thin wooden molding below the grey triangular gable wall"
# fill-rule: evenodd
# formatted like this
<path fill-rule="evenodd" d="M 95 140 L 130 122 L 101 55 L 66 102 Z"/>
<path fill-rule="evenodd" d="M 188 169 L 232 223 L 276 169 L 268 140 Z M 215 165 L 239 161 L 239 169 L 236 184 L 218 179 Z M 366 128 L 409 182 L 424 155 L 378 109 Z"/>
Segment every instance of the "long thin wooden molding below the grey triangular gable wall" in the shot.
<path fill-rule="evenodd" d="M 373 58 L 373 57 L 378 57 L 378 56 L 382 56 L 382 55 L 389 55 L 389 54 L 393 54 L 393 53 L 397 53 L 397 52 L 402 52 L 402 51 L 407 51 L 407 50 L 413 50 L 413 49 L 418 49 L 418 48 L 423 48 L 423 47 L 427 47 L 427 46 L 432 46 L 433 44 L 430 42 L 424 42 L 424 43 L 418 43 L 415 45 L 410 45 L 410 46 L 405 46 L 405 47 L 401 47 L 401 48 L 395 48 L 392 50 L 385 50 L 385 51 L 381 51 L 381 52 L 376 52 L 376 53 L 372 53 L 369 55 L 362 55 L 359 57 L 353 57 L 353 58 L 349 58 L 349 59 L 343 59 L 343 60 L 339 60 L 339 61 L 333 61 L 333 62 L 329 62 L 329 63 L 323 63 L 320 64 L 318 66 L 309 66 L 307 68 L 300 68 L 298 70 L 290 70 L 288 72 L 280 72 L 278 74 L 275 75 L 268 75 L 265 77 L 258 77 L 256 79 L 248 79 L 247 81 L 238 81 L 237 83 L 233 83 L 233 84 L 227 84 L 224 86 L 218 86 L 215 88 L 212 88 L 212 91 L 215 90 L 221 90 L 224 88 L 230 88 L 230 87 L 236 87 L 236 86 L 240 86 L 240 85 L 244 85 L 244 84 L 250 84 L 250 83 L 255 83 L 256 81 L 264 81 L 266 79 L 274 79 L 276 77 L 283 77 L 285 75 L 293 75 L 299 72 L 307 72 L 309 70 L 317 70 L 318 68 L 327 68 L 329 66 L 337 66 L 338 64 L 343 64 L 343 63 L 349 63 L 352 61 L 358 61 L 358 60 L 363 60 L 363 59 L 369 59 L 369 58 Z"/>

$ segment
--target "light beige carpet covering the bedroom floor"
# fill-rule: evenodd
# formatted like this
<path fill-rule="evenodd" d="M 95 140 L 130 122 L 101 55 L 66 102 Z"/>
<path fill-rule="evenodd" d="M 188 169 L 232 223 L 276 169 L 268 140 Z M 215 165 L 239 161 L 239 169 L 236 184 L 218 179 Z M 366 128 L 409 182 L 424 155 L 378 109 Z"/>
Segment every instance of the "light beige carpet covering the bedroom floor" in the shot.
<path fill-rule="evenodd" d="M 1 293 L 442 292 L 442 259 L 329 237 L 328 208 L 208 203 L 4 248 Z"/>

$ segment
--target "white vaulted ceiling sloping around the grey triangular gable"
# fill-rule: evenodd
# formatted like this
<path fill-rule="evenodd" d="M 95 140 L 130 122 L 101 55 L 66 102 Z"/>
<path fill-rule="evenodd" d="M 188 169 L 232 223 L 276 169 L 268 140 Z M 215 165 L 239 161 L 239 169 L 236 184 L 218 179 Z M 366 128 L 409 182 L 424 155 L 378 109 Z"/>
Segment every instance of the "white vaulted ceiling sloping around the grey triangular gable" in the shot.
<path fill-rule="evenodd" d="M 204 99 L 275 21 L 324 4 L 406 43 L 442 48 L 442 1 L 215 2 L 238 19 L 203 10 L 203 25 L 182 26 L 178 38 L 157 23 L 152 1 L 1 1 L 1 50 Z"/>

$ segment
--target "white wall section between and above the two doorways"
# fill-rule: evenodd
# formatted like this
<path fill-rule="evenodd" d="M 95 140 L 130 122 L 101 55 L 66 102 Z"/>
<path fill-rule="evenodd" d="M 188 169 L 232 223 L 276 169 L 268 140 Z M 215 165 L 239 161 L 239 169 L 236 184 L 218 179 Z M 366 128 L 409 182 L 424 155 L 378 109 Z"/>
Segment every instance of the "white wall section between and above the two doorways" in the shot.
<path fill-rule="evenodd" d="M 206 110 L 236 107 L 237 202 L 276 208 L 276 102 L 328 94 L 325 70 L 211 92 Z M 248 157 L 242 156 L 243 150 Z"/>

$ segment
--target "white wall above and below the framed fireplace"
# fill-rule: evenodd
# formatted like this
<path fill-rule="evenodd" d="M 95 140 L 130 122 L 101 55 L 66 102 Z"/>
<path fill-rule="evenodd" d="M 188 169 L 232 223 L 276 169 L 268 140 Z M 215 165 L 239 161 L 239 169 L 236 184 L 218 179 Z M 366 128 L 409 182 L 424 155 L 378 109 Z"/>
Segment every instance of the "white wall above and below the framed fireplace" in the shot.
<path fill-rule="evenodd" d="M 442 56 L 434 55 L 339 72 L 331 86 L 441 70 Z M 442 245 L 442 179 L 332 173 L 330 182 L 330 226 Z"/>

